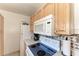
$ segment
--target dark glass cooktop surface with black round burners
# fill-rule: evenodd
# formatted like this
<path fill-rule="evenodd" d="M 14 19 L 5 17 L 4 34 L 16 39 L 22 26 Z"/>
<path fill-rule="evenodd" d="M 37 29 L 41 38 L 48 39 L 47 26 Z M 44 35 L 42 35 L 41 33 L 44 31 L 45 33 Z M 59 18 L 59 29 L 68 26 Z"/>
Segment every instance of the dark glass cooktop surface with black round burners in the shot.
<path fill-rule="evenodd" d="M 30 45 L 29 48 L 34 56 L 52 56 L 57 52 L 55 49 L 51 49 L 42 43 Z"/>

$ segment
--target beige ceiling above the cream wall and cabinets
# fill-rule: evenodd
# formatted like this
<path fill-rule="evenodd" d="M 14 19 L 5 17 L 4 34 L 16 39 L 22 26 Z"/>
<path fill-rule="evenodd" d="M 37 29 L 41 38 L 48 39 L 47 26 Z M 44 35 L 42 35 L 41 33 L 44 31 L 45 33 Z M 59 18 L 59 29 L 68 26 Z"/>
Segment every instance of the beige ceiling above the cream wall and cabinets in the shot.
<path fill-rule="evenodd" d="M 31 16 L 43 3 L 0 3 L 0 9 Z"/>

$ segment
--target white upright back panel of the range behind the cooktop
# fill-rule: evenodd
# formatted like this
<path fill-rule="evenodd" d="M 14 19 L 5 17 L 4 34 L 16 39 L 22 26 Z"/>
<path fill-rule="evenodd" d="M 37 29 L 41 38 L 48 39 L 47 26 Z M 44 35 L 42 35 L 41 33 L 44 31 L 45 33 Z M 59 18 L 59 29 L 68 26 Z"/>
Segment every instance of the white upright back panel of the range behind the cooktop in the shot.
<path fill-rule="evenodd" d="M 50 48 L 60 51 L 60 41 L 59 40 L 40 36 L 40 42 L 49 46 Z"/>

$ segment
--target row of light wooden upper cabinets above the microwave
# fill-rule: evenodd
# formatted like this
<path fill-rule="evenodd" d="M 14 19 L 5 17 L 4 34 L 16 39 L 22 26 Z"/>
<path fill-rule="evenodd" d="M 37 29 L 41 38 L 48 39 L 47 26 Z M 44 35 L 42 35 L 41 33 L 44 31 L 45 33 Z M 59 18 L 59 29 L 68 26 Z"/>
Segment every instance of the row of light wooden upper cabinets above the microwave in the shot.
<path fill-rule="evenodd" d="M 38 10 L 38 12 L 35 13 L 35 20 L 39 20 L 49 14 L 54 15 L 54 4 L 53 3 L 48 3 L 45 4 L 44 7 L 42 7 L 40 10 Z"/>

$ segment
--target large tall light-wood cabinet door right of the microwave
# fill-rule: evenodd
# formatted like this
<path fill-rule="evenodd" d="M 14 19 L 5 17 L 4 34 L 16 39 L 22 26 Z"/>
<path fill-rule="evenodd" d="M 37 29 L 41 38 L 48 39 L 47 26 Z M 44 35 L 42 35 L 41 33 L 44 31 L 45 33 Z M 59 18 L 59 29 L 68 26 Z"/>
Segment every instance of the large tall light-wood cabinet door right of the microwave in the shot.
<path fill-rule="evenodd" d="M 70 4 L 55 4 L 55 33 L 70 34 Z"/>

